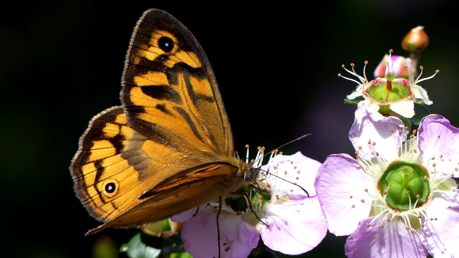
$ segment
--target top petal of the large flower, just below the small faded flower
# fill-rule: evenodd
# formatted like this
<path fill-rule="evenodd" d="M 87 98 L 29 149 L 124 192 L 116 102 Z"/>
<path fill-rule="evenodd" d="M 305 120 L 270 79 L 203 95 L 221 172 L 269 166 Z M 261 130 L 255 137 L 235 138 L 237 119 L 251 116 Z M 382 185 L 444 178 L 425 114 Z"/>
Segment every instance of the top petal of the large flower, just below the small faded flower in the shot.
<path fill-rule="evenodd" d="M 391 161 L 397 157 L 398 146 L 406 138 L 403 133 L 402 120 L 395 117 L 384 117 L 377 111 L 363 104 L 355 111 L 355 119 L 351 130 L 349 131 L 349 139 L 351 140 L 355 150 L 362 147 L 359 155 L 366 160 L 374 157 L 374 152 L 379 152 L 380 157 Z M 401 132 L 398 130 L 402 129 Z M 375 142 L 375 151 L 373 146 L 368 144 L 368 141 Z"/>

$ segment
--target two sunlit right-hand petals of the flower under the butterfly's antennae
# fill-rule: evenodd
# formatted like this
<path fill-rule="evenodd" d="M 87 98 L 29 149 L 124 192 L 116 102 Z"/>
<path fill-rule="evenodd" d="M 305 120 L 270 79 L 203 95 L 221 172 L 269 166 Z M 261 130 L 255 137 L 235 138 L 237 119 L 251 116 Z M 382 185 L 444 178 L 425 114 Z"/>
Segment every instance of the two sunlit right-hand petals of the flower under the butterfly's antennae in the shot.
<path fill-rule="evenodd" d="M 325 237 L 327 224 L 313 185 L 320 165 L 298 151 L 291 156 L 277 155 L 262 167 L 269 172 L 263 175 L 271 186 L 271 200 L 257 214 L 269 224 L 260 224 L 261 237 L 269 248 L 300 254 L 316 247 Z M 309 197 L 300 187 L 282 179 L 301 185 Z"/>

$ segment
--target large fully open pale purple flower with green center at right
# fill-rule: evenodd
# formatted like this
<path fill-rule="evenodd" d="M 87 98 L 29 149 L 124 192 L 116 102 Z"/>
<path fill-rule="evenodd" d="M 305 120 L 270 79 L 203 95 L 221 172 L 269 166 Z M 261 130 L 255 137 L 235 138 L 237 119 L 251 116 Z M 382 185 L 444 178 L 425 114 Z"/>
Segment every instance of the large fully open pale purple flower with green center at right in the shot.
<path fill-rule="evenodd" d="M 403 126 L 362 105 L 349 132 L 357 160 L 334 154 L 319 168 L 322 211 L 331 233 L 350 235 L 349 258 L 459 253 L 459 191 L 451 178 L 459 176 L 459 129 L 429 115 L 407 140 Z"/>

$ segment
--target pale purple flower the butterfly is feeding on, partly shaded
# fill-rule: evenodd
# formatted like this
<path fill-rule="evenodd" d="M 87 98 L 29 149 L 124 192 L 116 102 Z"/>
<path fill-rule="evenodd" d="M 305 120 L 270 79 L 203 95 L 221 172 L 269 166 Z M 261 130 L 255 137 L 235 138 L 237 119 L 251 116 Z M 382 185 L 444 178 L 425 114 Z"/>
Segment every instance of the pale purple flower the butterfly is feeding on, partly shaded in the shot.
<path fill-rule="evenodd" d="M 270 194 L 263 193 L 253 208 L 269 227 L 260 223 L 248 208 L 234 212 L 224 205 L 219 217 L 221 257 L 247 257 L 257 247 L 260 235 L 267 247 L 286 254 L 300 254 L 316 247 L 327 232 L 313 185 L 320 165 L 300 152 L 270 158 L 262 166 L 265 172 L 258 181 L 262 188 L 270 189 Z M 298 185 L 307 189 L 309 197 Z M 175 221 L 186 220 L 182 230 L 185 250 L 196 258 L 218 257 L 218 202 L 199 210 L 201 213 L 195 217 L 192 215 L 196 209 L 174 216 Z"/>

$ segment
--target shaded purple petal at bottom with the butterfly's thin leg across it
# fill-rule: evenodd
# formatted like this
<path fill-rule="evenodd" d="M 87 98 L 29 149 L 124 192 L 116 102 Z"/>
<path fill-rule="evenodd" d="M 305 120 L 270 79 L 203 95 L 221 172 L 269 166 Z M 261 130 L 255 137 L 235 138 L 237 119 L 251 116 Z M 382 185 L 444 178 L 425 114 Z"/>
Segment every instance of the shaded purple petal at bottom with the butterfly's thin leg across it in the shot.
<path fill-rule="evenodd" d="M 257 247 L 260 236 L 242 216 L 220 215 L 221 258 L 246 258 Z M 215 213 L 203 213 L 183 225 L 184 248 L 194 258 L 218 257 L 217 220 Z"/>

